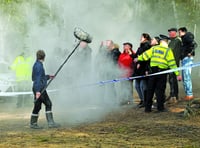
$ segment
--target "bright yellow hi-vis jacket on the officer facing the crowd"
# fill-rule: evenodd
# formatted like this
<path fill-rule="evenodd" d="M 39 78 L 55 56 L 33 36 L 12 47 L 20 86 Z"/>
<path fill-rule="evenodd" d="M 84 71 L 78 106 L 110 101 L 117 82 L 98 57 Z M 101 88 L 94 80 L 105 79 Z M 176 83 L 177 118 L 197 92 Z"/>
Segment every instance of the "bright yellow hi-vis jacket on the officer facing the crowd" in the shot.
<path fill-rule="evenodd" d="M 138 61 L 147 61 L 150 59 L 150 67 L 158 67 L 160 69 L 174 69 L 177 68 L 176 61 L 172 49 L 168 45 L 160 43 L 160 45 L 153 46 L 143 54 L 138 56 Z M 174 72 L 177 76 L 178 71 Z"/>

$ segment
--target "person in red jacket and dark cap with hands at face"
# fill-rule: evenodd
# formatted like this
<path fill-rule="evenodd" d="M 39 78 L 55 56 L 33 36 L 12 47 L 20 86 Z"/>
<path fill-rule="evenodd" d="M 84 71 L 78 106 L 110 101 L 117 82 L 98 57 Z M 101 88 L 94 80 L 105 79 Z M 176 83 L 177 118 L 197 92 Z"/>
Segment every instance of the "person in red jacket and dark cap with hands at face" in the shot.
<path fill-rule="evenodd" d="M 132 44 L 126 42 L 123 44 L 123 52 L 120 54 L 118 59 L 118 65 L 121 70 L 122 77 L 131 77 L 133 75 L 133 58 L 131 55 L 135 54 L 132 50 Z M 133 80 L 121 82 L 122 92 L 121 97 L 123 101 L 121 105 L 130 104 L 133 102 Z"/>

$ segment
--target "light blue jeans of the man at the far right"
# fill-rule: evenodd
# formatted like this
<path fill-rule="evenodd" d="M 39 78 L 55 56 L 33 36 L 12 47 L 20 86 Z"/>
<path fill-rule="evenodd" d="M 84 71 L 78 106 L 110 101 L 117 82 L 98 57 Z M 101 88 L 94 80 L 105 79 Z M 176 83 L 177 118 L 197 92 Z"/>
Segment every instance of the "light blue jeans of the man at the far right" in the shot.
<path fill-rule="evenodd" d="M 181 64 L 183 67 L 193 64 L 193 57 L 185 57 L 181 61 Z M 187 96 L 193 96 L 191 71 L 191 68 L 187 68 L 182 71 L 183 87 Z"/>

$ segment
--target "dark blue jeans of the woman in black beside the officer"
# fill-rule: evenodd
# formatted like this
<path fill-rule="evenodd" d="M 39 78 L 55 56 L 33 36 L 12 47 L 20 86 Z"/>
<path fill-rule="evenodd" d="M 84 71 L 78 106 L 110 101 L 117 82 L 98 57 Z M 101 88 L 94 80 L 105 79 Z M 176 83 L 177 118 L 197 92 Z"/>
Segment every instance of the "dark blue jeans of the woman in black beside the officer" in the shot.
<path fill-rule="evenodd" d="M 138 93 L 138 96 L 141 101 L 144 101 L 144 91 L 147 90 L 147 80 L 145 79 L 136 79 L 135 80 L 135 89 Z"/>

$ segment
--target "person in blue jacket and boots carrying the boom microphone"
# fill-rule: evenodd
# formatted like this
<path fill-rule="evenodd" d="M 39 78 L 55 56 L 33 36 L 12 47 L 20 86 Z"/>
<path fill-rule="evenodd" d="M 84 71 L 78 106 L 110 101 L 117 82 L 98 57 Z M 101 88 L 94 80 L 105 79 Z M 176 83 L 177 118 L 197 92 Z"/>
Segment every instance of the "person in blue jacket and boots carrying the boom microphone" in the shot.
<path fill-rule="evenodd" d="M 37 60 L 35 64 L 33 65 L 33 71 L 32 71 L 34 108 L 31 115 L 30 128 L 33 128 L 33 129 L 40 128 L 37 124 L 37 121 L 38 121 L 38 114 L 41 109 L 42 103 L 45 105 L 48 127 L 49 128 L 59 127 L 60 125 L 56 124 L 53 120 L 53 114 L 51 110 L 52 103 L 46 90 L 41 93 L 41 91 L 47 85 L 47 80 L 53 79 L 54 76 L 45 74 L 45 71 L 43 68 L 45 52 L 43 50 L 38 50 L 36 53 L 36 56 L 37 56 Z"/>

